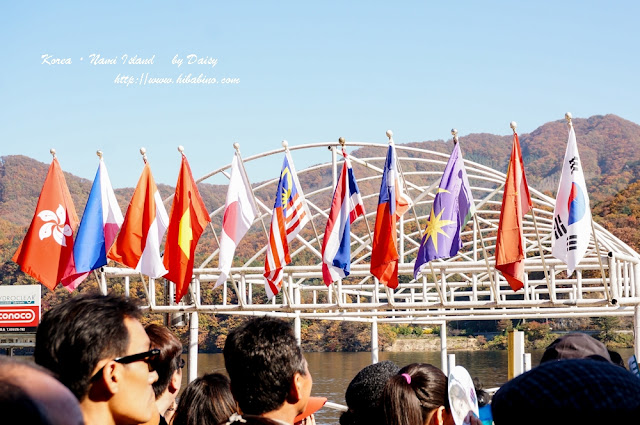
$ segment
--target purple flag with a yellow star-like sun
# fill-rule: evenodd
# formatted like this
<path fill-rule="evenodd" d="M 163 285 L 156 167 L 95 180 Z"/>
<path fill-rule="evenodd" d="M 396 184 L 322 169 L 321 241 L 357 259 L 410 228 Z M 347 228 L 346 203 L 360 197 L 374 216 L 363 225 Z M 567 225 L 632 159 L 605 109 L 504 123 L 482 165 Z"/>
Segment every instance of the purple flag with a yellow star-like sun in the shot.
<path fill-rule="evenodd" d="M 414 278 L 418 277 L 429 261 L 454 257 L 460 251 L 460 232 L 474 213 L 473 196 L 462 161 L 462 152 L 460 145 L 456 144 L 433 200 L 427 229 L 413 268 Z"/>

